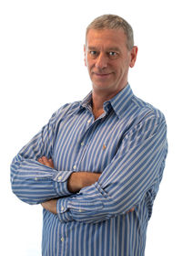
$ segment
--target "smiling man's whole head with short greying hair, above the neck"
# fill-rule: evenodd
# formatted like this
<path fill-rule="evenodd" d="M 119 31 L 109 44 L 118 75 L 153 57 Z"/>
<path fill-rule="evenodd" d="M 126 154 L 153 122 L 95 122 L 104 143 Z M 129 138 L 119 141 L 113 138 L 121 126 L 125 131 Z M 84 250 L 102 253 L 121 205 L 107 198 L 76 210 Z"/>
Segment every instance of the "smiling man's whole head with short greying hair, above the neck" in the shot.
<path fill-rule="evenodd" d="M 85 63 L 93 91 L 115 95 L 127 83 L 136 61 L 133 30 L 121 17 L 97 17 L 86 28 Z"/>

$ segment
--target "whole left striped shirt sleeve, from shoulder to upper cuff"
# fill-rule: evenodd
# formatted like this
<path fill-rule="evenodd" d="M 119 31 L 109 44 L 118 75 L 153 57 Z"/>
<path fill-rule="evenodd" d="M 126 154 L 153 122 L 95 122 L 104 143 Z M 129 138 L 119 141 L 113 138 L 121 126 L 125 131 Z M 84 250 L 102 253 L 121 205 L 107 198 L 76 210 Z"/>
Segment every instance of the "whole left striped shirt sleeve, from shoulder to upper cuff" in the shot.
<path fill-rule="evenodd" d="M 62 115 L 66 112 L 66 107 L 60 111 Z M 72 171 L 57 171 L 37 161 L 43 155 L 53 159 L 56 115 L 55 112 L 49 123 L 25 145 L 11 164 L 12 190 L 25 203 L 38 204 L 54 197 L 71 194 L 67 190 L 67 179 Z"/>

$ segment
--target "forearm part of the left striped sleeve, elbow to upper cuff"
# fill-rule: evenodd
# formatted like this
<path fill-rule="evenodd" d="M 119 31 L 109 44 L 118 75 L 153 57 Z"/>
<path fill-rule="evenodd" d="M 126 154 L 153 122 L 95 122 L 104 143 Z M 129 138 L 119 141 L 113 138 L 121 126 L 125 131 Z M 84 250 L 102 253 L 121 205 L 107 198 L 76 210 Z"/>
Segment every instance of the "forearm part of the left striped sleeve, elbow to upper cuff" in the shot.
<path fill-rule="evenodd" d="M 15 157 L 11 171 L 12 190 L 25 203 L 38 204 L 71 194 L 67 190 L 67 178 L 72 172 L 58 172 L 20 155 Z"/>

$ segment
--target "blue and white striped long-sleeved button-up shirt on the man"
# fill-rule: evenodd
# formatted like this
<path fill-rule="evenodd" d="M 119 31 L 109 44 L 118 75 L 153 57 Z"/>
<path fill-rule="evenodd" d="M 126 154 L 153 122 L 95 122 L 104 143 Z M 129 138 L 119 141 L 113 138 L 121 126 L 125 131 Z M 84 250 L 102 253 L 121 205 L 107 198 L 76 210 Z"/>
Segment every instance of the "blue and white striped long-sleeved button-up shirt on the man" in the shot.
<path fill-rule="evenodd" d="M 60 108 L 15 156 L 12 189 L 28 204 L 59 198 L 57 215 L 43 212 L 42 255 L 143 256 L 167 156 L 165 117 L 129 84 L 96 120 L 91 98 Z M 54 169 L 37 162 L 43 155 Z M 101 176 L 72 194 L 67 179 L 79 171 Z"/>

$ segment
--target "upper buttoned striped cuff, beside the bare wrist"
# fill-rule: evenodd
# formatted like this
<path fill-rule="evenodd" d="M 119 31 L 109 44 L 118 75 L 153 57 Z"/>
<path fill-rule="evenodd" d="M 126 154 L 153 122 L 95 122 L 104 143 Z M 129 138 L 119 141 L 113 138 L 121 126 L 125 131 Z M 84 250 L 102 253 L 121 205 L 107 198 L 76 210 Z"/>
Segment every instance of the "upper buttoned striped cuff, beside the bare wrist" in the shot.
<path fill-rule="evenodd" d="M 54 187 L 57 195 L 62 197 L 72 195 L 72 193 L 67 189 L 67 180 L 72 173 L 72 171 L 56 172 L 56 176 L 53 177 L 53 180 L 55 181 Z"/>

